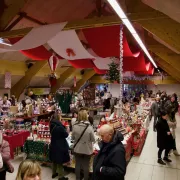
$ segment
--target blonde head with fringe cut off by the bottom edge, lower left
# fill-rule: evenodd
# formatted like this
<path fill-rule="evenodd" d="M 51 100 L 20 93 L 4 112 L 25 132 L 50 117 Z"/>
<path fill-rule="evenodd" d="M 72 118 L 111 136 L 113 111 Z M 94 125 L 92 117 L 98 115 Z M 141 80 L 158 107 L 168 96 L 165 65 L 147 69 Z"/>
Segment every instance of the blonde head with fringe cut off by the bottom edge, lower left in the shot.
<path fill-rule="evenodd" d="M 19 165 L 16 180 L 41 180 L 40 165 L 36 161 L 22 161 Z"/>

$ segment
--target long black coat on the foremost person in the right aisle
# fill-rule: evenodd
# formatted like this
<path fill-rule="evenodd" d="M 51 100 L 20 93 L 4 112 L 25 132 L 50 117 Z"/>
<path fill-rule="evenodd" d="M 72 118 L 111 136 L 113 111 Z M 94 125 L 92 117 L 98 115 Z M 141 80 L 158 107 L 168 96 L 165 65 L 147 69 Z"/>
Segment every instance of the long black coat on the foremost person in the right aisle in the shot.
<path fill-rule="evenodd" d="M 170 132 L 167 120 L 160 118 L 156 124 L 157 130 L 157 147 L 161 149 L 172 149 L 173 148 L 173 137 Z"/>

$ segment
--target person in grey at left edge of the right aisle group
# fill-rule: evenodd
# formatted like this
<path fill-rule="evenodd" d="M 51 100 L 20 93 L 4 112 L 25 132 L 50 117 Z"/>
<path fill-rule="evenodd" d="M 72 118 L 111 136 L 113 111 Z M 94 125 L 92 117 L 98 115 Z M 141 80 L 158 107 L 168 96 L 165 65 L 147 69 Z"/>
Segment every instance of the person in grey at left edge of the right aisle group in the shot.
<path fill-rule="evenodd" d="M 153 130 L 156 131 L 156 123 L 160 115 L 161 103 L 160 97 L 156 97 L 156 101 L 151 105 L 151 115 L 154 117 Z"/>

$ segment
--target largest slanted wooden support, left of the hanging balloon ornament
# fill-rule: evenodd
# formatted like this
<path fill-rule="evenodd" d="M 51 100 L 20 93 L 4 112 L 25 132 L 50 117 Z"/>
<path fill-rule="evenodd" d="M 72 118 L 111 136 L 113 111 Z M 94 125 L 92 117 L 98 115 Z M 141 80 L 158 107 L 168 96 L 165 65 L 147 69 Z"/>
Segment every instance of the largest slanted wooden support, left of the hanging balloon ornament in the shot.
<path fill-rule="evenodd" d="M 29 86 L 31 79 L 47 64 L 47 61 L 39 61 L 35 63 L 11 89 L 11 94 L 15 95 L 17 99 L 23 93 L 24 89 Z"/>

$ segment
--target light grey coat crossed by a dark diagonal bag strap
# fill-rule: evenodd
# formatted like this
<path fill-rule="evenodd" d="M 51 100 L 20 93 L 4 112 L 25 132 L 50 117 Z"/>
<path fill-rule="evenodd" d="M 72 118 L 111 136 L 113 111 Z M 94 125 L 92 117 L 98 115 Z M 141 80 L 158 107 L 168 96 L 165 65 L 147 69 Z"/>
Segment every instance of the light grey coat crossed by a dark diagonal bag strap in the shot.
<path fill-rule="evenodd" d="M 89 122 L 86 121 L 76 123 L 73 127 L 72 139 L 74 140 L 74 144 L 76 144 L 87 125 L 88 128 L 86 129 L 83 136 L 74 148 L 74 152 L 77 154 L 93 154 L 93 142 L 95 142 L 95 137 L 93 127 L 90 125 Z"/>

